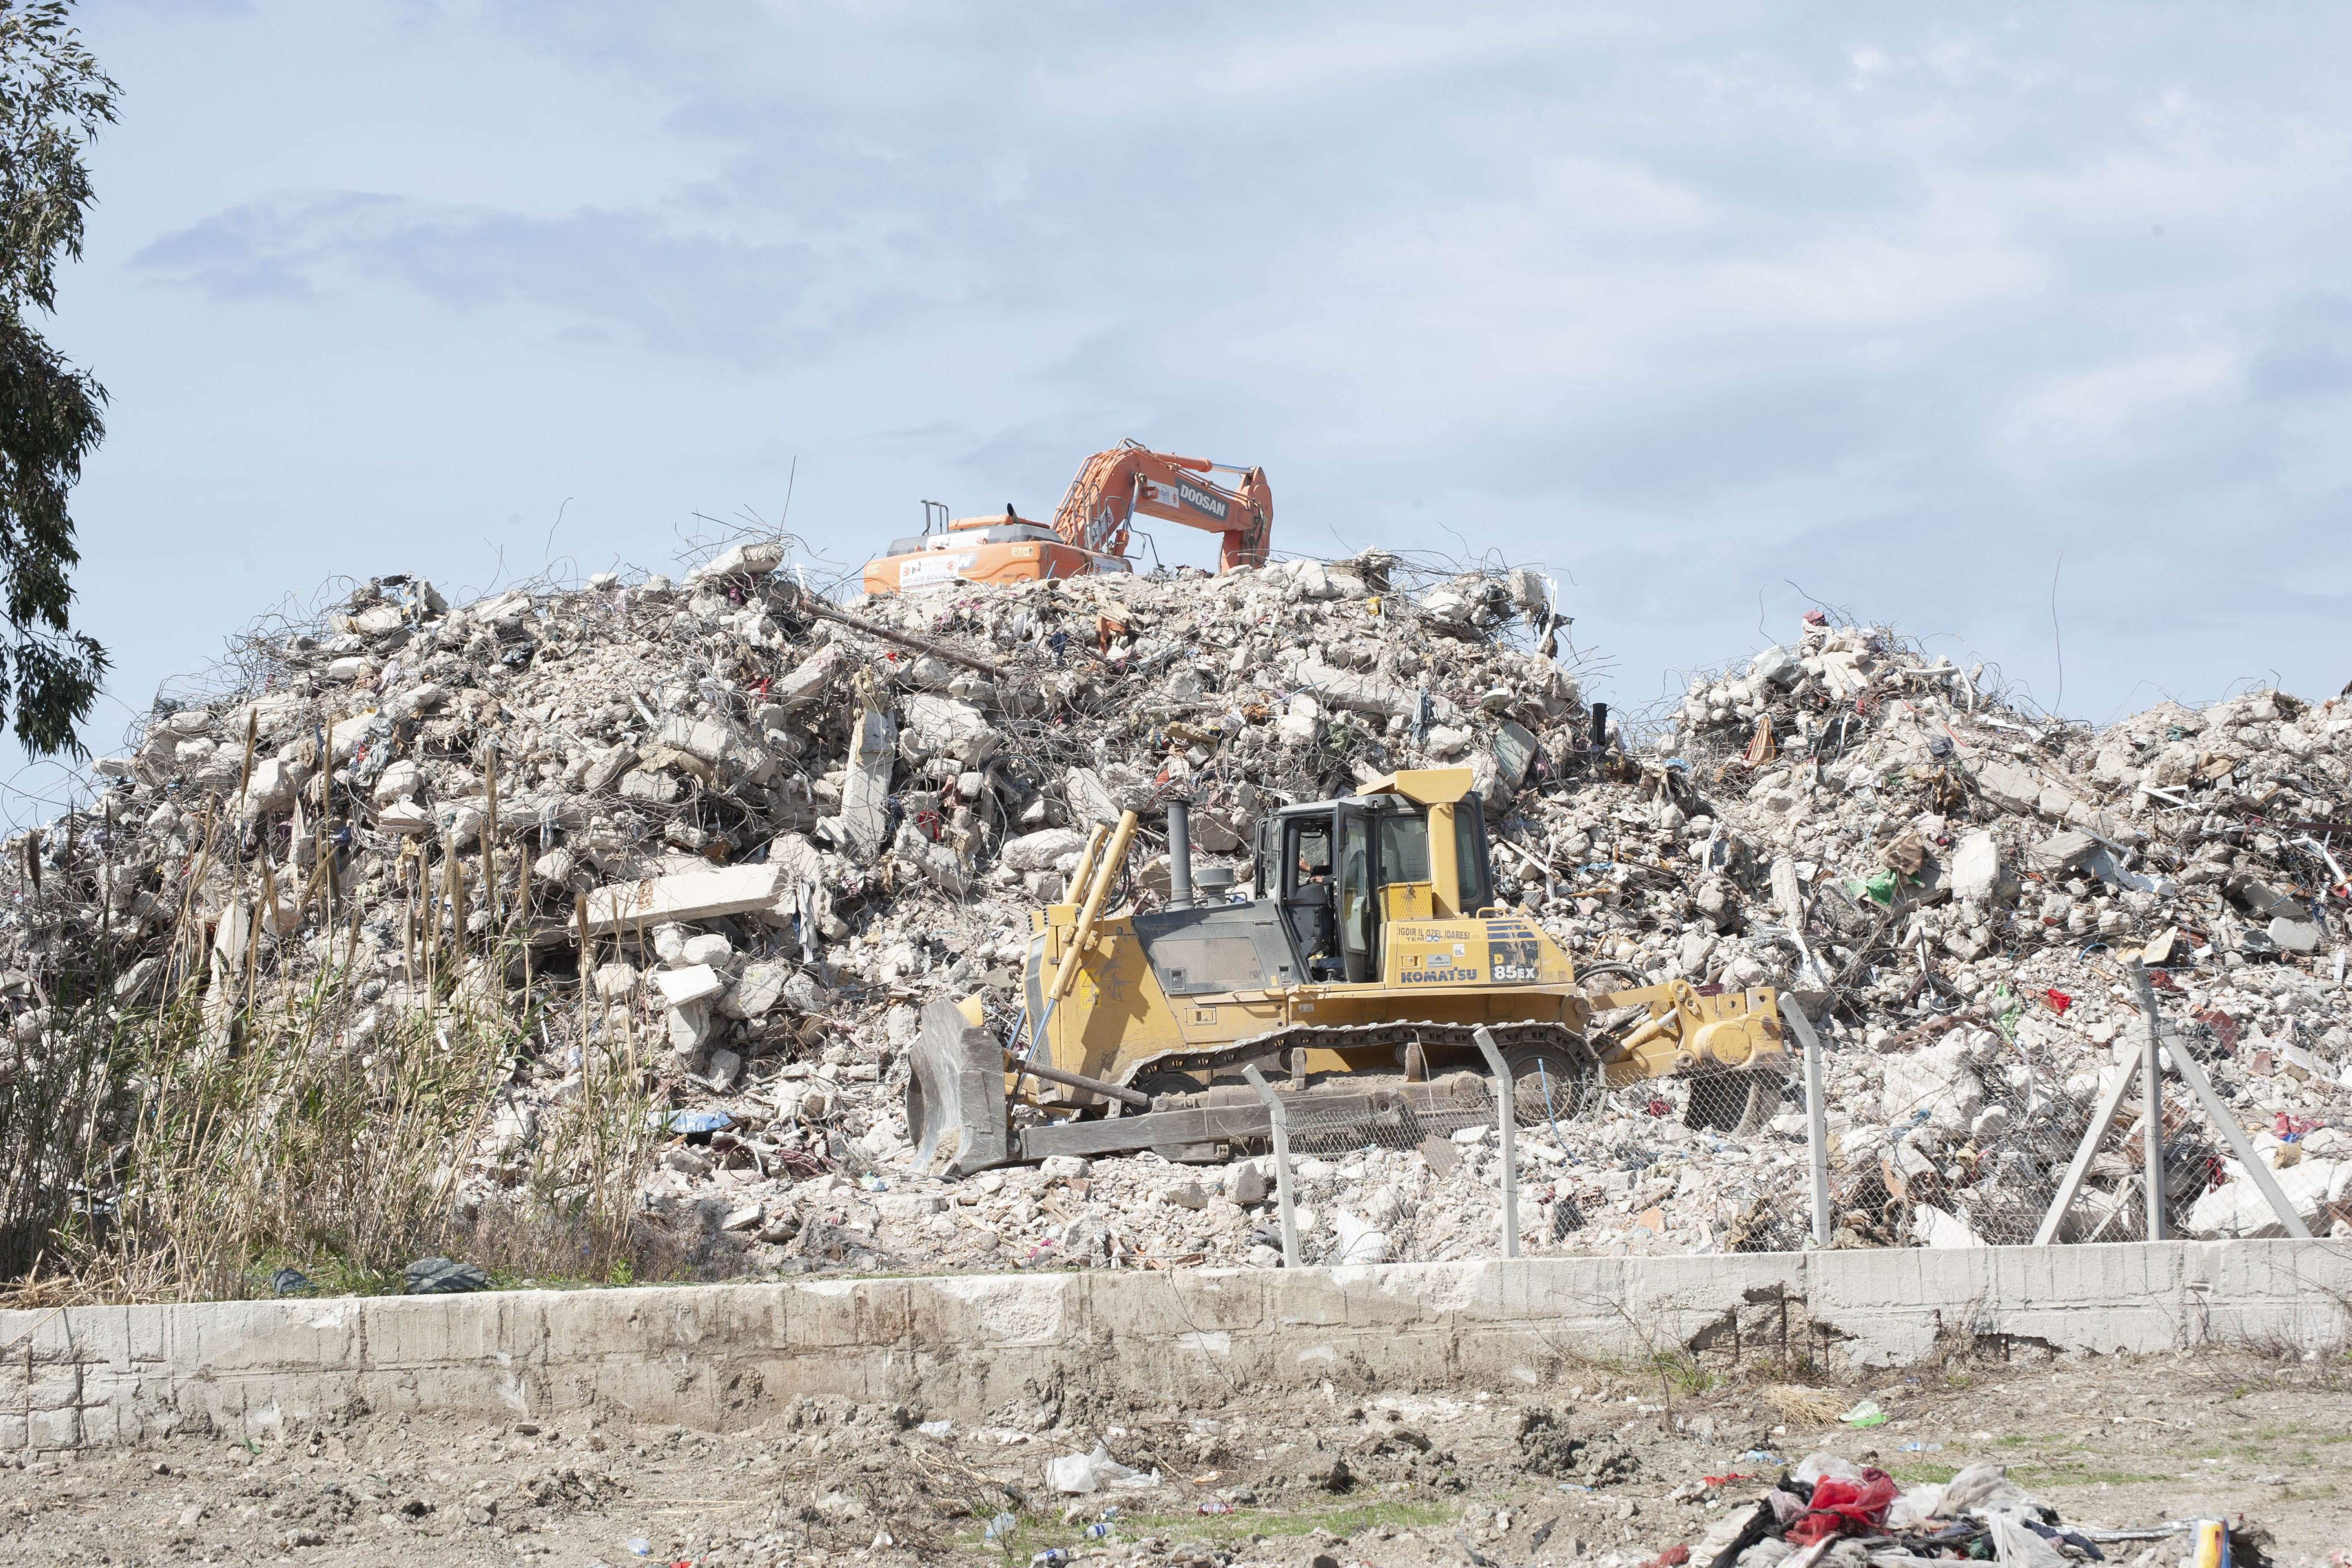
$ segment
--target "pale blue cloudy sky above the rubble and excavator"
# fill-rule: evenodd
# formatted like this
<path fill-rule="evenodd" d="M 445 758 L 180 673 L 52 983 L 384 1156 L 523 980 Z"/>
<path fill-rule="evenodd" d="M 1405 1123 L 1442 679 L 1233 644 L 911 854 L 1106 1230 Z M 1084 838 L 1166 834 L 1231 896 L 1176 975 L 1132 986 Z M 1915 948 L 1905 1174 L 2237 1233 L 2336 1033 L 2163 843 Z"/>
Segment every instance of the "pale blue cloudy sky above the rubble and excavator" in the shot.
<path fill-rule="evenodd" d="M 1621 703 L 1816 599 L 2089 719 L 2352 677 L 2345 12 L 82 26 L 101 748 L 334 574 L 663 567 L 788 484 L 854 564 L 1127 435 L 1263 463 L 1277 548 L 1550 567 Z"/>

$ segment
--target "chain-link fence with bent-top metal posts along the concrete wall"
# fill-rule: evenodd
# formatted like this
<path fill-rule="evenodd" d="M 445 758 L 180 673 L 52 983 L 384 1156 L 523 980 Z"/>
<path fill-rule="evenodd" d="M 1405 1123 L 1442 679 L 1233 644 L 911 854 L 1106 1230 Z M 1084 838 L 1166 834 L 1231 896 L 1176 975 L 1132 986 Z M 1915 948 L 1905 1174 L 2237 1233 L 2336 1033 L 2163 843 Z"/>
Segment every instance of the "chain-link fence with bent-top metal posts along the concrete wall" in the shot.
<path fill-rule="evenodd" d="M 1265 1173 L 1279 1185 L 1287 1159 L 1305 1265 L 2145 1239 L 2145 1023 L 2089 1041 L 2027 1018 L 1994 994 L 1912 1034 L 1828 1046 L 1790 1011 L 1792 1048 L 1818 1053 L 1813 1095 L 1804 1072 L 1604 1091 L 1526 1056 L 1508 1119 L 1494 1072 L 1359 1093 L 1334 1077 L 1298 1100 L 1268 1088 L 1289 1110 Z M 2307 1201 L 2291 1171 L 2272 1180 L 2201 1084 L 2211 1041 L 2183 1025 L 2161 1037 L 2159 1234 L 2324 1229 L 2324 1194 Z M 1277 1227 L 1261 1239 L 1275 1246 Z"/>

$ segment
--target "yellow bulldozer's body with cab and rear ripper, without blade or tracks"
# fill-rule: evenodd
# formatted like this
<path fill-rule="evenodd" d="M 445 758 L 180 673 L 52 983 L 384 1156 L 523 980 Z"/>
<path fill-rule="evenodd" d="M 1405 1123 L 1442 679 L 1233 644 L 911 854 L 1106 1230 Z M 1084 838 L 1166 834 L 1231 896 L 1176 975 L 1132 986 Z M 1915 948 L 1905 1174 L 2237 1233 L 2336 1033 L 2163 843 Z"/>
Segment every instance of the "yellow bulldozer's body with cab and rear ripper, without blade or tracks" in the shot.
<path fill-rule="evenodd" d="M 1606 1086 L 1785 1065 L 1771 990 L 1677 980 L 1588 994 L 1569 954 L 1534 919 L 1491 903 L 1470 790 L 1470 769 L 1425 769 L 1343 802 L 1289 806 L 1261 827 L 1258 896 L 1188 910 L 1105 912 L 1136 813 L 1098 827 L 1070 898 L 1033 914 L 1030 1056 L 1065 1074 L 1148 1088 L 1167 1074 L 1207 1086 L 1218 1070 L 1258 1060 L 1294 1079 L 1411 1077 L 1416 1067 L 1477 1065 L 1470 1030 L 1515 1025 L 1526 1048 L 1550 1041 L 1555 1072 L 1583 1053 L 1585 1072 Z M 1308 875 L 1324 851 L 1324 872 Z M 1334 919 L 1317 924 L 1322 910 Z M 1327 926 L 1338 931 L 1334 952 L 1317 950 Z M 1362 978 L 1345 978 L 1348 966 Z M 1616 1039 L 1592 1039 L 1595 1016 L 1635 1006 L 1646 1016 Z M 1018 1079 L 1016 1070 L 1009 1081 Z M 1030 1079 L 1025 1088 L 1047 1107 L 1098 1105 L 1065 1084 Z"/>

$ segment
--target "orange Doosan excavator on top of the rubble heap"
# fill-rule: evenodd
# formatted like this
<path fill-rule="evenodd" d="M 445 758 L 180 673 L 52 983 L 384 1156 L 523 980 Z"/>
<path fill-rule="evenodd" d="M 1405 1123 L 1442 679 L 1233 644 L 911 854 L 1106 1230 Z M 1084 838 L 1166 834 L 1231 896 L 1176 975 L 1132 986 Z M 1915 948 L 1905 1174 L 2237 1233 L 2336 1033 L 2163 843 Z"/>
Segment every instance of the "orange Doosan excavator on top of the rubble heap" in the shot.
<path fill-rule="evenodd" d="M 1235 475 L 1225 487 L 1211 473 Z M 1150 451 L 1120 442 L 1077 470 L 1054 512 L 1054 527 L 1021 517 L 948 517 L 924 501 L 924 531 L 891 541 L 866 562 L 866 592 L 903 592 L 936 583 L 1035 583 L 1087 571 L 1134 571 L 1127 541 L 1136 517 L 1164 517 L 1223 536 L 1218 571 L 1263 567 L 1275 529 L 1275 491 L 1263 468 Z M 936 527 L 934 527 L 936 524 Z"/>

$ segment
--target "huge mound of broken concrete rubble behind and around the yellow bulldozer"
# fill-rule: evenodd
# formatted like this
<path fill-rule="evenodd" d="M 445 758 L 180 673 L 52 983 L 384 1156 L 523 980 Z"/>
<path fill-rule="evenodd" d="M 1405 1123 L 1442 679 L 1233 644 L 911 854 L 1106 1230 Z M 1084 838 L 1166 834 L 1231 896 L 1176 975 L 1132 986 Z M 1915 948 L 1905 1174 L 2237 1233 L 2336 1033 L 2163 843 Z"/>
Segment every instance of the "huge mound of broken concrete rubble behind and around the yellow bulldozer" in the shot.
<path fill-rule="evenodd" d="M 2030 1239 L 2138 1058 L 2133 954 L 2312 1229 L 2352 1234 L 2352 705 L 2089 729 L 1813 611 L 1628 724 L 1583 701 L 1529 569 L 1376 552 L 833 602 L 786 559 L 750 541 L 675 583 L 461 607 L 379 578 L 238 689 L 158 703 L 89 806 L 7 846 L 12 1051 L 78 994 L 118 1027 L 198 1006 L 205 1051 L 308 999 L 310 1051 L 353 1072 L 419 1020 L 503 1016 L 510 1058 L 440 1154 L 468 1218 L 626 1180 L 706 1274 L 1270 1267 L 1263 1159 L 915 1173 L 917 1013 L 978 992 L 1009 1027 L 1030 912 L 1145 788 L 1181 788 L 1195 853 L 1247 882 L 1261 813 L 1468 764 L 1501 896 L 1595 990 L 1778 985 L 1820 1023 L 1837 1246 Z M 1136 867 L 1148 907 L 1150 839 Z M 652 1119 L 621 1178 L 543 1135 L 597 1074 Z M 1526 1251 L 1804 1246 L 1802 1088 L 1755 1135 L 1684 1100 L 1642 1084 L 1524 1133 Z M 2138 1234 L 2133 1114 L 2065 1239 Z M 2166 1133 L 2176 1225 L 2277 1234 L 2171 1084 Z M 1494 1161 L 1477 1128 L 1451 1159 L 1303 1159 L 1308 1258 L 1491 1255 Z"/>

